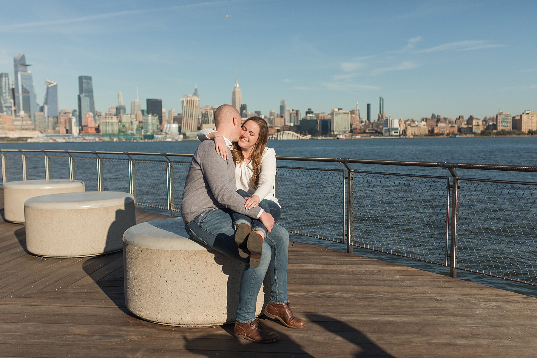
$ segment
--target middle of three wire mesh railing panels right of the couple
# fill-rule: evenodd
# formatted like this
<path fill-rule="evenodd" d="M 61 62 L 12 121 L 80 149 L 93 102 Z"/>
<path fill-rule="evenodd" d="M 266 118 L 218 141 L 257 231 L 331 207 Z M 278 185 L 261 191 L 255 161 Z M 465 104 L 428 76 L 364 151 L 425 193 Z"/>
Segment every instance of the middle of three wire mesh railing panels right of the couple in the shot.
<path fill-rule="evenodd" d="M 353 246 L 447 266 L 450 177 L 351 175 Z"/>

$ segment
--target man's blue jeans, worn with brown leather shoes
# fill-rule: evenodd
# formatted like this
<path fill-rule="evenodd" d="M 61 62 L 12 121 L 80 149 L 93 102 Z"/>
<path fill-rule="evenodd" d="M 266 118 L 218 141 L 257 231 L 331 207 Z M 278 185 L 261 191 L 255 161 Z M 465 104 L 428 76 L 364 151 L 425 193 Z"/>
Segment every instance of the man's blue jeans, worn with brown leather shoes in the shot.
<path fill-rule="evenodd" d="M 289 233 L 274 224 L 272 231 L 263 240 L 259 267 L 250 267 L 249 258 L 241 258 L 235 243 L 235 228 L 229 209 L 209 209 L 186 224 L 186 232 L 198 242 L 212 247 L 224 255 L 244 262 L 241 290 L 237 308 L 237 321 L 252 322 L 256 319 L 257 295 L 267 271 L 270 277 L 270 301 L 282 304 L 287 299 L 287 263 Z"/>

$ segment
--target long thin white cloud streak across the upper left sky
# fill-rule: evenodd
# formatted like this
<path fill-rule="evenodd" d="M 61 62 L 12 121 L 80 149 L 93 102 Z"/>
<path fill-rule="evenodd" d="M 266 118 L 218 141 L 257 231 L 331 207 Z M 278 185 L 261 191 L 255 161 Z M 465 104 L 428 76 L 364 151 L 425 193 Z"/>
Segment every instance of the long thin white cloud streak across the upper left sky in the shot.
<path fill-rule="evenodd" d="M 199 3 L 199 4 L 187 4 L 187 5 L 169 6 L 167 8 L 158 8 L 158 9 L 144 9 L 144 10 L 128 10 L 128 11 L 119 11 L 119 12 L 109 12 L 109 13 L 101 13 L 101 14 L 91 15 L 91 16 L 71 18 L 71 19 L 58 19 L 58 20 L 51 20 L 51 21 L 35 21 L 33 23 L 4 25 L 4 26 L 0 26 L 0 32 L 14 30 L 14 29 L 23 28 L 23 27 L 35 27 L 35 26 L 77 23 L 79 21 L 108 19 L 108 18 L 112 18 L 112 17 L 127 16 L 127 15 L 132 15 L 132 14 L 139 14 L 139 13 L 153 12 L 153 11 L 176 10 L 176 9 L 184 9 L 184 8 L 198 8 L 200 6 L 230 5 L 230 4 L 235 4 L 235 3 L 251 3 L 251 2 L 259 2 L 259 1 L 248 1 L 248 0 L 213 1 L 213 2 L 205 2 L 205 3 Z"/>

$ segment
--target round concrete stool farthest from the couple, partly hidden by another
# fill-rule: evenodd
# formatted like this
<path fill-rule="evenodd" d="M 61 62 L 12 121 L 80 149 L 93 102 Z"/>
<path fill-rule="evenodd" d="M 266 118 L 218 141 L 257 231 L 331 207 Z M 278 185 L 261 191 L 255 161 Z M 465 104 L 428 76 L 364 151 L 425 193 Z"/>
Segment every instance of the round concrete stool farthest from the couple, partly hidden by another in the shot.
<path fill-rule="evenodd" d="M 34 196 L 85 191 L 81 180 L 39 179 L 17 180 L 4 184 L 4 217 L 16 224 L 24 224 L 24 202 Z"/>

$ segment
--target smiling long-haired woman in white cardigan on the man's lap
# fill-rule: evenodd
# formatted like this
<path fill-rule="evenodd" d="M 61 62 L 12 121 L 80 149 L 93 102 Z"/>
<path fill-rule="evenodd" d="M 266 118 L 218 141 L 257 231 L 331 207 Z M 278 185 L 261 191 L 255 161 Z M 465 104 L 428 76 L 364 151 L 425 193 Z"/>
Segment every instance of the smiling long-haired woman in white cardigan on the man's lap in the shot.
<path fill-rule="evenodd" d="M 278 222 L 281 206 L 274 197 L 274 177 L 276 174 L 276 154 L 266 148 L 269 129 L 264 119 L 251 117 L 242 125 L 238 142 L 231 144 L 231 155 L 235 163 L 237 193 L 244 196 L 248 209 L 261 207 Z M 213 129 L 202 129 L 198 133 L 200 141 L 213 140 L 216 152 L 228 159 L 226 141 Z M 235 224 L 235 242 L 241 257 L 250 256 L 250 266 L 259 266 L 263 240 L 267 229 L 259 220 L 246 215 L 231 214 Z"/>

